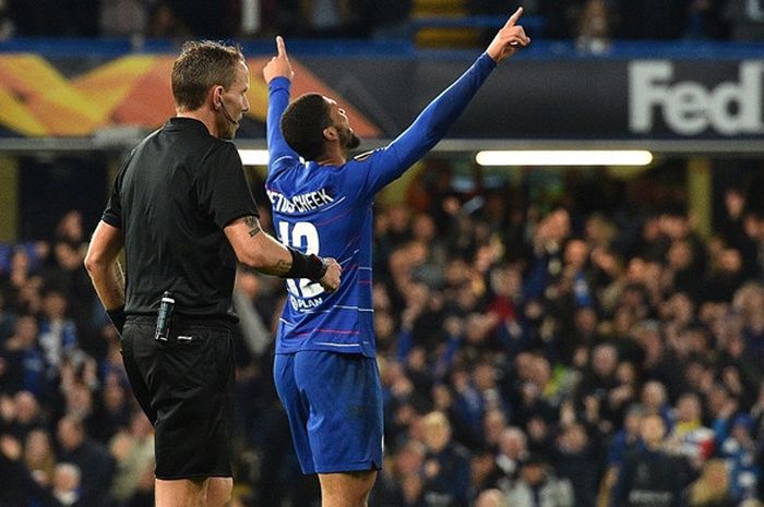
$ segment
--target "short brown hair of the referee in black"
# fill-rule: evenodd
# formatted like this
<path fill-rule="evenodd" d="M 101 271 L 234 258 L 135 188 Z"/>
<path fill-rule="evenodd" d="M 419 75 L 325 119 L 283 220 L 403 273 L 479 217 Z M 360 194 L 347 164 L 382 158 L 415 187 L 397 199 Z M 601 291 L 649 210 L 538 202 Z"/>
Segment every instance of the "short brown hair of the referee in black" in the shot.
<path fill-rule="evenodd" d="M 212 40 L 188 41 L 172 64 L 172 96 L 178 109 L 199 109 L 211 87 L 225 89 L 236 79 L 236 67 L 244 62 L 238 46 Z"/>

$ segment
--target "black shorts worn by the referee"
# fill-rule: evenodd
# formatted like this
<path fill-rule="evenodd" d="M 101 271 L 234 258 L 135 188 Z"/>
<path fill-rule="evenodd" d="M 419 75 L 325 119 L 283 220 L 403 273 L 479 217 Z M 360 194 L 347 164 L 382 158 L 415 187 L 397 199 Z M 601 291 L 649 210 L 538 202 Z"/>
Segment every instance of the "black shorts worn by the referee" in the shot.
<path fill-rule="evenodd" d="M 156 341 L 156 318 L 128 317 L 122 360 L 154 425 L 156 478 L 231 476 L 234 339 L 225 321 L 178 322 Z"/>

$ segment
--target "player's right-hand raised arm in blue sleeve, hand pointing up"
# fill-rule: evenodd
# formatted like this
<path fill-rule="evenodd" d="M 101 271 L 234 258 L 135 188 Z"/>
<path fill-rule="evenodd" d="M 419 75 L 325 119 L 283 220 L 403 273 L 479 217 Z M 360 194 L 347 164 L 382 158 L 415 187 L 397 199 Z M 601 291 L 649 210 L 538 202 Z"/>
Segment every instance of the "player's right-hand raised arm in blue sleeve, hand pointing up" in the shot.
<path fill-rule="evenodd" d="M 497 33 L 486 52 L 432 100 L 406 131 L 382 150 L 387 155 L 375 160 L 381 165 L 375 168 L 375 172 L 380 178 L 386 177 L 386 181 L 380 181 L 375 190 L 401 176 L 445 135 L 497 63 L 530 44 L 530 38 L 525 35 L 523 27 L 517 25 L 522 14 L 523 8 L 517 9 Z"/>

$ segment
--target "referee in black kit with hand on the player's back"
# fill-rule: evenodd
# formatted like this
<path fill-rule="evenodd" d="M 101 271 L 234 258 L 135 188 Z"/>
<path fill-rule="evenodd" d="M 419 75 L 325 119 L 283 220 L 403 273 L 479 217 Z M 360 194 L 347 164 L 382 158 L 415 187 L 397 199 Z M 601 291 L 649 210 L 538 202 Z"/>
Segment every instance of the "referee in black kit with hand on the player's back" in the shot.
<path fill-rule="evenodd" d="M 237 261 L 330 292 L 339 285 L 333 258 L 285 248 L 260 228 L 227 141 L 249 108 L 248 88 L 237 47 L 183 46 L 172 67 L 176 117 L 130 154 L 85 258 L 156 430 L 158 507 L 215 507 L 230 497 Z"/>

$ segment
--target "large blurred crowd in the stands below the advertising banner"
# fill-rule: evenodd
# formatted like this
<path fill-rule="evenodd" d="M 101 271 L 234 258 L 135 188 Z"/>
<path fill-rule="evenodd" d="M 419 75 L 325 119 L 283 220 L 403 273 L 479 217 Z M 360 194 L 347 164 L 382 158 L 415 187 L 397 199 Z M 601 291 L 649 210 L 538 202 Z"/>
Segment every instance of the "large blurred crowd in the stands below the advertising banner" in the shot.
<path fill-rule="evenodd" d="M 725 189 L 701 237 L 656 171 L 566 174 L 465 183 L 432 158 L 378 208 L 371 506 L 763 505 L 764 210 Z M 0 248 L 2 507 L 153 505 L 152 427 L 86 239 L 71 212 Z M 318 505 L 271 377 L 283 303 L 282 280 L 239 273 L 235 506 Z"/>

